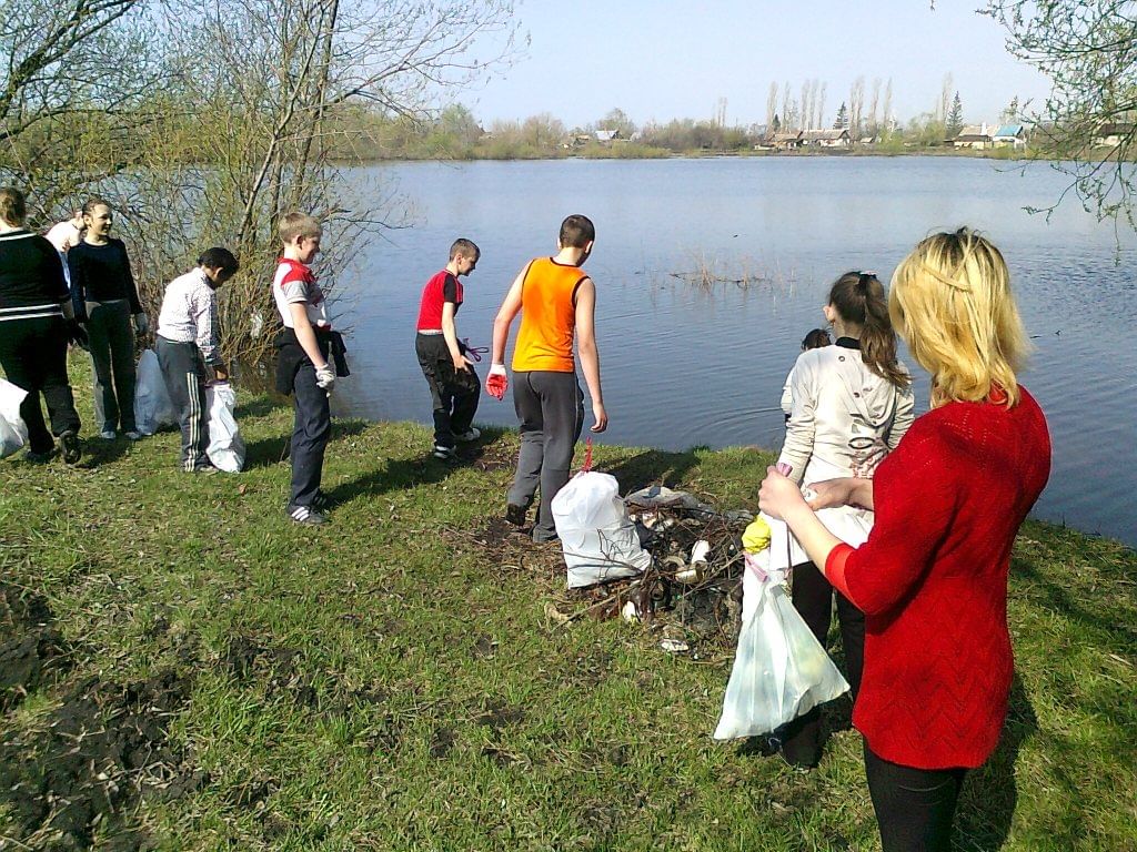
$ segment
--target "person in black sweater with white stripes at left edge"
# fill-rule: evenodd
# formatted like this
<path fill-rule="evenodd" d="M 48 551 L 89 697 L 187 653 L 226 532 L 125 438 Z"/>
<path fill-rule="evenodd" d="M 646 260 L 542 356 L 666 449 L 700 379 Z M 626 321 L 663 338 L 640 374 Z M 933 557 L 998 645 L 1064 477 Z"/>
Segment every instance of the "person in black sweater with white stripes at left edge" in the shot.
<path fill-rule="evenodd" d="M 24 194 L 0 189 L 0 366 L 8 381 L 27 391 L 19 416 L 27 426 L 27 458 L 47 461 L 59 438 L 64 460 L 80 459 L 78 415 L 67 381 L 72 306 L 59 254 L 39 234 L 25 231 Z M 40 394 L 51 432 L 43 423 Z"/>

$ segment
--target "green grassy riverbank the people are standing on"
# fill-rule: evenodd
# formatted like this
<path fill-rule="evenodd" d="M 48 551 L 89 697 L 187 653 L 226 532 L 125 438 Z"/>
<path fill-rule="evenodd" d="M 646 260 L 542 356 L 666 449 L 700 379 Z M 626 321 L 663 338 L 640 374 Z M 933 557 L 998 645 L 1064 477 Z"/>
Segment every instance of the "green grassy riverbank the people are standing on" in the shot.
<path fill-rule="evenodd" d="M 499 534 L 514 435 L 453 466 L 422 426 L 338 423 L 309 529 L 290 410 L 239 415 L 239 476 L 177 473 L 173 433 L 0 462 L 0 849 L 878 847 L 847 703 L 797 775 L 711 741 L 729 653 L 550 616 L 557 550 Z M 597 449 L 723 509 L 769 459 Z M 1137 849 L 1137 556 L 1029 523 L 1012 574 L 1011 717 L 958 847 Z"/>

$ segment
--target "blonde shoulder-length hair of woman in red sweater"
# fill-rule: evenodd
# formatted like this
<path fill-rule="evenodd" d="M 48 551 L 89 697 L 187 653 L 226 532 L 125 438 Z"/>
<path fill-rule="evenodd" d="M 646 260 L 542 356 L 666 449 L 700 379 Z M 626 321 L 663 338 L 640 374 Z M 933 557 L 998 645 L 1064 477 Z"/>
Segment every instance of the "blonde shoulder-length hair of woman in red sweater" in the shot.
<path fill-rule="evenodd" d="M 962 227 L 916 245 L 893 274 L 888 312 L 931 374 L 932 406 L 985 400 L 999 389 L 1007 408 L 1018 404 L 1015 374 L 1030 344 L 1006 261 L 985 236 Z"/>

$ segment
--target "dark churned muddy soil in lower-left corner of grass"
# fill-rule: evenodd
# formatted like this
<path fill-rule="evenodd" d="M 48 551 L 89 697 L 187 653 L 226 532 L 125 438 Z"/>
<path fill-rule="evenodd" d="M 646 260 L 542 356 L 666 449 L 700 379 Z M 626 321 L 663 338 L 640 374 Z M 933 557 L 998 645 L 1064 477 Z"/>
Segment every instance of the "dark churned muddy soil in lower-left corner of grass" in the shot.
<path fill-rule="evenodd" d="M 44 598 L 0 586 L 0 812 L 19 849 L 152 847 L 136 817 L 144 796 L 176 797 L 207 780 L 168 738 L 191 683 L 173 671 L 118 684 L 63 683 L 73 649 Z M 58 687 L 50 712 L 14 724 L 24 699 Z"/>

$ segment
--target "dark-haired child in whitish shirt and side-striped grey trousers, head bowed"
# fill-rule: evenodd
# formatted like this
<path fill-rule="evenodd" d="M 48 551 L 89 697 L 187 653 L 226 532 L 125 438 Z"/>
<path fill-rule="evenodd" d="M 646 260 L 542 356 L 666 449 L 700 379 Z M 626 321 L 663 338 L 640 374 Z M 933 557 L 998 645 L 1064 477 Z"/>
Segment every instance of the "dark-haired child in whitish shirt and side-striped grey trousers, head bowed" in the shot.
<path fill-rule="evenodd" d="M 181 463 L 188 474 L 216 470 L 206 456 L 209 446 L 206 382 L 225 382 L 229 373 L 221 357 L 214 291 L 232 278 L 236 269 L 236 258 L 229 249 L 207 249 L 198 258 L 196 269 L 166 286 L 158 312 L 158 364 L 169 400 L 177 410 L 182 427 Z"/>

